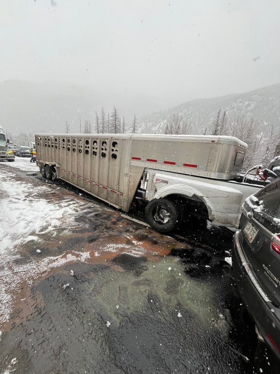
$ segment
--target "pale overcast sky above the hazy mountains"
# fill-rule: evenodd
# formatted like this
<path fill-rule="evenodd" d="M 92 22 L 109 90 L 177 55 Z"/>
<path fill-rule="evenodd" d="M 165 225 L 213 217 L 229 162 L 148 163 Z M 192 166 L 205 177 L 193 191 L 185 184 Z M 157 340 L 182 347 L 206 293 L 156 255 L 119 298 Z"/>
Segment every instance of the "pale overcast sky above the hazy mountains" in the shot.
<path fill-rule="evenodd" d="M 0 81 L 172 106 L 280 83 L 279 0 L 0 0 Z"/>

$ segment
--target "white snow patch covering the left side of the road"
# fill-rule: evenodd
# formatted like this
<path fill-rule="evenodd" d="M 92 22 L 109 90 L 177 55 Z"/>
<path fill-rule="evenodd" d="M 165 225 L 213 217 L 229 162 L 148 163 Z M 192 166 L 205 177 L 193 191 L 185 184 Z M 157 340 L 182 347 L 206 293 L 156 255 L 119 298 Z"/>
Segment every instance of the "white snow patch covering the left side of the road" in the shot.
<path fill-rule="evenodd" d="M 18 161 L 18 158 L 17 158 Z M 19 159 L 8 166 L 27 171 L 38 171 L 28 159 Z M 20 263 L 24 245 L 38 243 L 46 233 L 56 235 L 56 230 L 69 230 L 82 203 L 75 200 L 60 200 L 59 204 L 52 199 L 50 187 L 41 186 L 35 189 L 30 181 L 18 180 L 16 173 L 0 168 L 0 323 L 9 320 L 14 299 L 17 297 L 20 284 L 35 279 L 51 268 L 70 261 L 85 261 L 88 253 L 72 253 L 30 259 Z M 77 223 L 75 222 L 75 225 Z M 34 245 L 34 253 L 36 253 Z M 26 255 L 26 253 L 25 253 Z"/>

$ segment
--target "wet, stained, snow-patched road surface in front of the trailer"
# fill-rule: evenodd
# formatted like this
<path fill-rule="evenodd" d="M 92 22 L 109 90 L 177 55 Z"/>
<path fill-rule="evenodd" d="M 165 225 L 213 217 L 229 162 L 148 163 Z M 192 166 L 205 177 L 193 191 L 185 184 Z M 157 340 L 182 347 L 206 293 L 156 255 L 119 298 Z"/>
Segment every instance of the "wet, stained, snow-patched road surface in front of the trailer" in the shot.
<path fill-rule="evenodd" d="M 0 373 L 252 373 L 229 234 L 163 236 L 28 161 L 0 163 Z"/>

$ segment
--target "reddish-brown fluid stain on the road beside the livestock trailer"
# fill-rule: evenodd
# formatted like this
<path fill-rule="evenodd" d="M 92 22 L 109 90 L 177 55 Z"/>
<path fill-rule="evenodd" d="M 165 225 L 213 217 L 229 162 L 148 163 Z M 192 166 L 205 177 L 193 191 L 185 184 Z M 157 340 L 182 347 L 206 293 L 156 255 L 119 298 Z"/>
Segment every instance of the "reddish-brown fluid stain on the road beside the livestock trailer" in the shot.
<path fill-rule="evenodd" d="M 104 208 L 98 207 L 98 209 L 102 211 Z M 52 232 L 41 235 L 40 243 L 29 242 L 21 248 L 19 262 L 22 261 L 28 265 L 28 262 L 40 263 L 46 260 L 48 266 L 37 272 L 35 277 L 31 273 L 13 291 L 13 312 L 9 321 L 0 324 L 1 331 L 9 331 L 12 326 L 28 320 L 35 308 L 42 306 L 43 297 L 32 293 L 33 285 L 63 271 L 65 264 L 80 262 L 79 256 L 82 253 L 88 253 L 88 257 L 84 260 L 86 263 L 105 264 L 116 271 L 123 272 L 121 266 L 112 262 L 115 257 L 126 253 L 136 257 L 146 257 L 156 262 L 158 257 L 167 256 L 176 245 L 174 239 L 163 237 L 151 229 L 131 223 L 121 218 L 118 212 L 111 212 L 108 209 L 105 211 L 106 214 L 102 214 L 104 219 L 99 218 L 99 229 L 94 231 L 94 234 L 90 229 L 90 212 L 88 216 L 88 212 L 85 212 L 83 213 L 85 218 L 83 227 L 77 225 L 72 227 L 71 232 L 62 231 L 61 235 L 54 238 Z M 41 253 L 36 253 L 36 250 L 40 250 Z M 69 256 L 72 260 L 67 261 Z M 62 264 L 56 266 L 58 257 L 62 260 Z M 82 266 L 80 263 L 80 268 Z M 11 265 L 11 271 L 13 271 L 13 265 Z"/>

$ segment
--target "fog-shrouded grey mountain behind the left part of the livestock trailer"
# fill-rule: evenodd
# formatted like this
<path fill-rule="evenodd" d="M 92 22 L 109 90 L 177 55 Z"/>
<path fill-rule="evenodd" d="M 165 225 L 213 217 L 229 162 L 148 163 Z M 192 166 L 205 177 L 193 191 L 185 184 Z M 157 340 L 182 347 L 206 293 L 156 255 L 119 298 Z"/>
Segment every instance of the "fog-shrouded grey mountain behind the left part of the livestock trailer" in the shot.
<path fill-rule="evenodd" d="M 66 121 L 70 132 L 82 131 L 84 122 L 95 123 L 95 112 L 111 114 L 116 106 L 125 122 L 155 110 L 163 109 L 158 99 L 137 93 L 100 92 L 91 86 L 61 85 L 7 80 L 0 83 L 0 123 L 14 135 L 22 132 L 64 132 Z M 122 118 L 123 119 L 123 118 Z"/>

